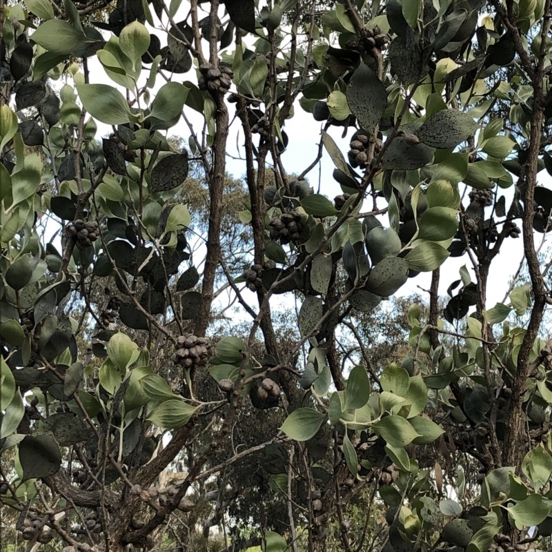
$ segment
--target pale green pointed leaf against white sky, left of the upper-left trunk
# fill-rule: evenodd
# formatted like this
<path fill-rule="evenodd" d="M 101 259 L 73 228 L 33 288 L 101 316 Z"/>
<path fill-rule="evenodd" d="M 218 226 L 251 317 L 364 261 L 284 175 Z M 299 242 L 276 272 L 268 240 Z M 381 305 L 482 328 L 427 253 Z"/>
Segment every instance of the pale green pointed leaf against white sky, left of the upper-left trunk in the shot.
<path fill-rule="evenodd" d="M 102 123 L 122 125 L 134 119 L 126 99 L 117 88 L 107 84 L 79 84 L 77 92 L 83 107 Z"/>

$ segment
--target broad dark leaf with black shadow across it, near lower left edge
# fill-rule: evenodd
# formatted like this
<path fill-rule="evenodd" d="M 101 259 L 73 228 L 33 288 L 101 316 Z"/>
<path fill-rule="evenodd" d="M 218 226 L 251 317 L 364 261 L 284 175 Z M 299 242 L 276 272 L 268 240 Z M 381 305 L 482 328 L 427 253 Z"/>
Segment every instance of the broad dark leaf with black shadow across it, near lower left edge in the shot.
<path fill-rule="evenodd" d="M 23 482 L 49 477 L 61 467 L 61 451 L 51 435 L 27 435 L 19 443 L 19 462 L 23 469 Z"/>

